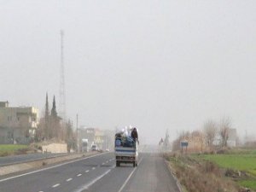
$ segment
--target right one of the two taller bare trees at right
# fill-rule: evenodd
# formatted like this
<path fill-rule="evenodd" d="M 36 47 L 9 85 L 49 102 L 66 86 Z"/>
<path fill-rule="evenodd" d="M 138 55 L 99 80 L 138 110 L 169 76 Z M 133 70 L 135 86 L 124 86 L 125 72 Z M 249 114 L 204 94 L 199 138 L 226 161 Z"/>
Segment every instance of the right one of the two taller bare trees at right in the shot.
<path fill-rule="evenodd" d="M 230 128 L 231 128 L 231 119 L 230 118 L 221 119 L 219 124 L 219 135 L 221 137 L 221 142 L 223 147 L 227 147 Z"/>

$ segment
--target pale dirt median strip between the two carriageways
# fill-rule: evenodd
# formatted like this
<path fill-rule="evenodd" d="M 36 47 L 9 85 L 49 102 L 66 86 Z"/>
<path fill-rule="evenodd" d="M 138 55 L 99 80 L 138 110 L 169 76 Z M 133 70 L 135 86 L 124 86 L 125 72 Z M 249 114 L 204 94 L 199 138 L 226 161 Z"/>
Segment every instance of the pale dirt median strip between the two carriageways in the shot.
<path fill-rule="evenodd" d="M 31 162 L 19 163 L 19 164 L 14 164 L 9 166 L 2 166 L 0 169 L 0 176 L 8 175 L 15 172 L 23 172 L 23 171 L 35 169 L 35 168 L 42 168 L 44 166 L 49 166 L 56 163 L 65 162 L 68 160 L 75 160 L 82 157 L 91 156 L 93 154 L 98 154 L 98 152 L 89 152 L 86 154 L 67 154 L 60 157 L 54 157 L 54 158 L 43 159 L 43 160 L 35 160 Z"/>

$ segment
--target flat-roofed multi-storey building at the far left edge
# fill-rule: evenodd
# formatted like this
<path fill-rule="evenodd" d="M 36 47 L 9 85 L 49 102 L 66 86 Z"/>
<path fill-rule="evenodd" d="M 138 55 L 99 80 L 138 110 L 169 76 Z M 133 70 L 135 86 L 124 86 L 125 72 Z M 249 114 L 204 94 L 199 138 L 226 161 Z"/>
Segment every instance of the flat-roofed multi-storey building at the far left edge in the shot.
<path fill-rule="evenodd" d="M 0 102 L 0 143 L 29 143 L 38 128 L 38 108 Z"/>

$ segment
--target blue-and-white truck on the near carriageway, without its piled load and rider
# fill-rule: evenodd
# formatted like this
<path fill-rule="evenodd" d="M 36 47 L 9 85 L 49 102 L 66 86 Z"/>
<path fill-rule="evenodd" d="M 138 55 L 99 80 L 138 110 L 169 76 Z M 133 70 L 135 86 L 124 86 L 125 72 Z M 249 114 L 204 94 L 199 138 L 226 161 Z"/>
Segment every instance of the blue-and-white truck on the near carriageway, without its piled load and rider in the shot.
<path fill-rule="evenodd" d="M 130 145 L 122 143 L 120 138 L 115 138 L 114 152 L 116 166 L 120 166 L 120 163 L 130 163 L 134 167 L 137 166 L 138 160 L 138 143 L 133 142 Z"/>

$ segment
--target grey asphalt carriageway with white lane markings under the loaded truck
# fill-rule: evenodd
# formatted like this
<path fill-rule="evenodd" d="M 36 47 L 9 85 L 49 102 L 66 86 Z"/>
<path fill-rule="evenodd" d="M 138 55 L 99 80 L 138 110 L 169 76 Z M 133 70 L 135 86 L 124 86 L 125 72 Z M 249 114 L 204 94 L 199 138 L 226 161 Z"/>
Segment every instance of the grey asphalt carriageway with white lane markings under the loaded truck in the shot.
<path fill-rule="evenodd" d="M 139 165 L 115 166 L 113 153 L 96 154 L 13 177 L 0 177 L 1 192 L 177 192 L 159 154 L 139 154 Z"/>

